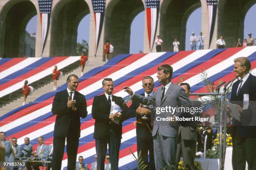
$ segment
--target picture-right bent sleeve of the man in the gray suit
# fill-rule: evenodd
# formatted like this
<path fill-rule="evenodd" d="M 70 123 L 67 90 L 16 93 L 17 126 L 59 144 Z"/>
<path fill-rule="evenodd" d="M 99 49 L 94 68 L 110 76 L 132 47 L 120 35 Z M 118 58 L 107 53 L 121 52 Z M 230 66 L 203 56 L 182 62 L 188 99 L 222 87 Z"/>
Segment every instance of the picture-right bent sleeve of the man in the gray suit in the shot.
<path fill-rule="evenodd" d="M 192 107 L 192 104 L 189 101 L 189 98 L 187 97 L 187 95 L 185 94 L 185 90 L 183 88 L 181 88 L 179 91 L 178 99 L 182 107 L 185 107 L 185 108 Z M 186 117 L 188 114 L 189 114 L 188 112 L 176 112 L 174 115 L 178 117 L 182 117 L 183 115 Z"/>

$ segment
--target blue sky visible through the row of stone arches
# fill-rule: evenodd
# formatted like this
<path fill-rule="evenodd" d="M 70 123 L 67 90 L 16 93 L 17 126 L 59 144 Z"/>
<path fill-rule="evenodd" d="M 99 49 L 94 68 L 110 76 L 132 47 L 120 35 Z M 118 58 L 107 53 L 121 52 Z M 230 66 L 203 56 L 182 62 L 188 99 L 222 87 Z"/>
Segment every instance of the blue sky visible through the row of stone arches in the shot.
<path fill-rule="evenodd" d="M 201 7 L 197 8 L 187 20 L 187 31 L 186 31 L 186 50 L 189 50 L 189 37 L 191 32 L 194 31 L 196 35 L 201 31 Z M 143 51 L 143 36 L 144 36 L 144 15 L 145 12 L 139 13 L 133 20 L 131 25 L 131 39 L 130 39 L 130 53 L 138 53 L 140 50 Z M 248 37 L 248 33 L 252 33 L 252 37 L 256 37 L 256 4 L 254 4 L 248 13 L 244 21 L 244 37 Z M 37 16 L 31 18 L 28 22 L 26 30 L 29 33 L 36 32 L 36 20 Z M 90 14 L 86 15 L 79 23 L 77 30 L 77 42 L 82 40 L 89 41 L 89 30 L 90 30 Z M 170 44 L 171 45 L 171 44 Z"/>

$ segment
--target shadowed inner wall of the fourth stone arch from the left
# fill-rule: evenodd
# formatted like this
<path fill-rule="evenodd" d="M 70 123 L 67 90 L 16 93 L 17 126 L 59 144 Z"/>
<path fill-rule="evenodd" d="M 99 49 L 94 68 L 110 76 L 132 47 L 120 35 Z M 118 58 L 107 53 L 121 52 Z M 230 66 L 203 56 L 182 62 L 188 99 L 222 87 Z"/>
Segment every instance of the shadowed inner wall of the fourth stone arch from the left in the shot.
<path fill-rule="evenodd" d="M 162 51 L 171 51 L 176 37 L 179 50 L 185 50 L 186 24 L 191 13 L 201 7 L 200 0 L 163 0 L 160 6 L 159 35 L 164 41 Z"/>

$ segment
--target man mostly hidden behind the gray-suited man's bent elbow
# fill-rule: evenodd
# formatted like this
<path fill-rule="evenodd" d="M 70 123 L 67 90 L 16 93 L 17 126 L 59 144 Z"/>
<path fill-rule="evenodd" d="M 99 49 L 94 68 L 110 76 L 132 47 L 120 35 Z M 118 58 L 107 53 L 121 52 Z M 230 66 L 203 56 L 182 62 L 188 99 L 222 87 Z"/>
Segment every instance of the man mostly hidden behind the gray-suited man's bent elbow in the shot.
<path fill-rule="evenodd" d="M 185 94 L 189 97 L 190 85 L 186 82 L 180 83 L 180 87 L 185 90 Z M 192 107 L 200 107 L 201 102 L 193 100 L 189 97 Z M 200 116 L 200 112 L 191 112 L 189 117 Z M 182 153 L 185 168 L 189 170 L 195 170 L 194 159 L 196 153 L 196 141 L 197 141 L 197 127 L 195 121 L 180 122 L 179 125 L 179 137 L 176 152 L 176 162 L 179 162 Z"/>

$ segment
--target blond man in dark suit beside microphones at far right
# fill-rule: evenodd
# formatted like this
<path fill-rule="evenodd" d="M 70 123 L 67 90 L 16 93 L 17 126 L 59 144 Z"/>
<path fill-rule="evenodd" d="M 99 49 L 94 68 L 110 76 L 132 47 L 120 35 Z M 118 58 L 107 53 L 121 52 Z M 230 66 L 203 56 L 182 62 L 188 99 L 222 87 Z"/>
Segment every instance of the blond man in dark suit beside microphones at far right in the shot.
<path fill-rule="evenodd" d="M 256 170 L 256 77 L 251 75 L 251 63 L 247 57 L 234 60 L 234 72 L 241 79 L 232 86 L 230 102 L 236 104 L 241 121 L 232 118 L 232 166 L 233 170 Z M 227 112 L 230 108 L 227 107 Z"/>

